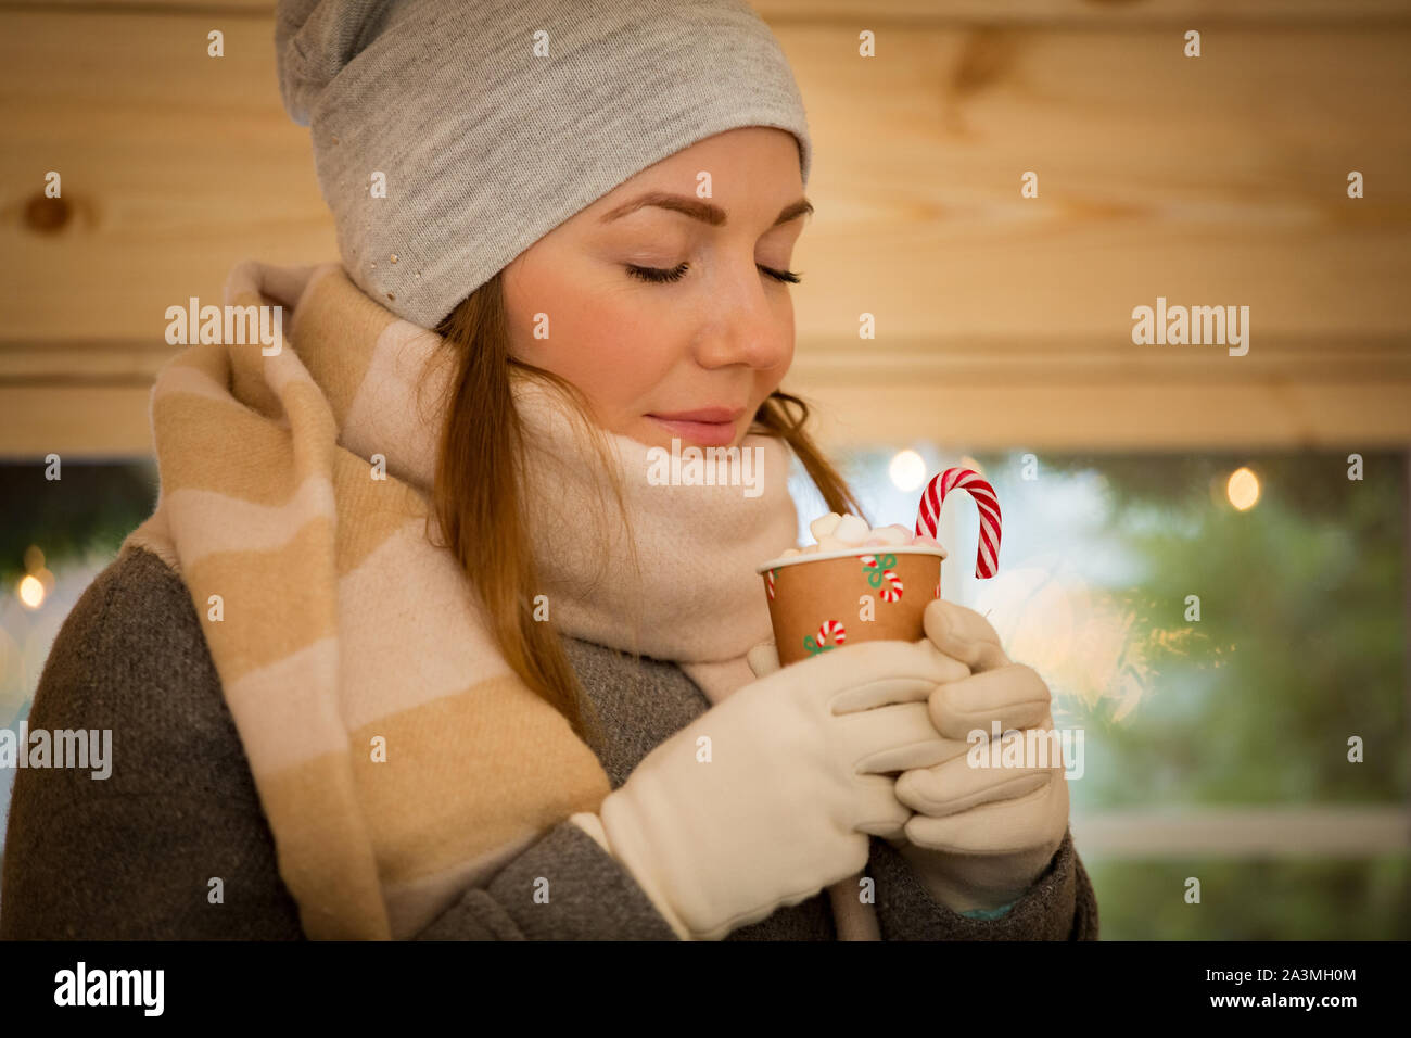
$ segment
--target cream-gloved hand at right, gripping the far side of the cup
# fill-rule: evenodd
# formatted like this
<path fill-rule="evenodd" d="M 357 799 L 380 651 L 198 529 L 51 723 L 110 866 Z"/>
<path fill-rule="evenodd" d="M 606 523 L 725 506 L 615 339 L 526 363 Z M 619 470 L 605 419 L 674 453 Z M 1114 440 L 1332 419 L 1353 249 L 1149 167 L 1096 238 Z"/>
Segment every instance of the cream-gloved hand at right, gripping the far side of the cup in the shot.
<path fill-rule="evenodd" d="M 955 743 L 940 764 L 897 777 L 896 797 L 916 813 L 906 823 L 906 842 L 892 845 L 952 911 L 999 908 L 1029 890 L 1068 829 L 1068 781 L 1058 740 L 1038 734 L 1053 733 L 1053 696 L 1031 667 L 1010 661 L 979 613 L 935 599 L 926 607 L 924 623 L 931 643 L 968 665 L 971 675 L 931 693 L 931 722 L 943 739 Z M 1019 730 L 1017 748 L 1027 767 L 971 763 L 975 743 L 967 736 L 975 730 L 985 743 L 975 756 L 992 760 L 993 722 L 1000 733 Z M 1002 746 L 1013 739 L 1003 739 Z M 1038 740 L 1048 743 L 1050 754 L 1030 760 Z"/>

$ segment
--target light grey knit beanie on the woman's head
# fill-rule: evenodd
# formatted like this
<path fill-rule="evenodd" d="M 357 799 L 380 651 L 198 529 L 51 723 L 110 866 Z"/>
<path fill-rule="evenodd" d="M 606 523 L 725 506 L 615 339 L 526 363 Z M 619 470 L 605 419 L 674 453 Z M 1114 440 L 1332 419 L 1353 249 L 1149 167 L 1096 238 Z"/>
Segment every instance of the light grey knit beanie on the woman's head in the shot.
<path fill-rule="evenodd" d="M 799 88 L 744 0 L 279 0 L 275 54 L 343 264 L 423 328 L 713 134 L 789 130 L 809 182 Z"/>

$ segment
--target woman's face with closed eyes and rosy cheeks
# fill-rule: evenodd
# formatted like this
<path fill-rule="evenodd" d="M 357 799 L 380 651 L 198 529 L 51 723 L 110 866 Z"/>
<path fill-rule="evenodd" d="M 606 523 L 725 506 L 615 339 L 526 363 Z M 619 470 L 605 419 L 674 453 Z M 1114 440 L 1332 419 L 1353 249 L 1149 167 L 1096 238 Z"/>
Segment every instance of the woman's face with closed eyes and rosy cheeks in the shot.
<path fill-rule="evenodd" d="M 577 386 L 610 432 L 737 446 L 793 360 L 793 301 L 776 275 L 790 275 L 806 212 L 787 131 L 698 141 L 515 257 L 511 350 Z"/>

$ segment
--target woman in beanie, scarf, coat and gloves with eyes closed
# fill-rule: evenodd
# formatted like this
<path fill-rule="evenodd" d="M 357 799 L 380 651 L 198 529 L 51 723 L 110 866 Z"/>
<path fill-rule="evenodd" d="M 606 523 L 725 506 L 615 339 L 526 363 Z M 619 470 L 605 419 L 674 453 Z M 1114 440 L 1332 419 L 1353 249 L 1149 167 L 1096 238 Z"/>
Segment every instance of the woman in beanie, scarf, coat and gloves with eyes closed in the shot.
<path fill-rule="evenodd" d="M 30 717 L 113 774 L 18 774 L 0 936 L 1095 939 L 1061 771 L 965 768 L 1053 723 L 988 623 L 768 644 L 787 452 L 861 511 L 777 388 L 811 155 L 768 27 L 501 7 L 281 3 L 343 263 L 241 264 L 282 338 L 158 377 L 158 507 Z M 759 493 L 649 479 L 682 445 Z"/>

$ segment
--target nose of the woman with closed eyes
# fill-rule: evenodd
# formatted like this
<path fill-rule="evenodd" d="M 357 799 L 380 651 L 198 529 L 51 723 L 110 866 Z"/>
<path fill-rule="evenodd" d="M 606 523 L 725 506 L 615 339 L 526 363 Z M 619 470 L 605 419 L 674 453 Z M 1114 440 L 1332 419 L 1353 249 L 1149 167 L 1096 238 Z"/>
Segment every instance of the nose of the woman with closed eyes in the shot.
<path fill-rule="evenodd" d="M 720 287 L 696 340 L 701 367 L 770 369 L 793 356 L 793 299 L 786 285 L 768 278 L 751 261 L 748 273 L 732 271 L 728 287 Z"/>

